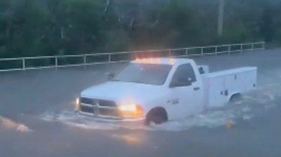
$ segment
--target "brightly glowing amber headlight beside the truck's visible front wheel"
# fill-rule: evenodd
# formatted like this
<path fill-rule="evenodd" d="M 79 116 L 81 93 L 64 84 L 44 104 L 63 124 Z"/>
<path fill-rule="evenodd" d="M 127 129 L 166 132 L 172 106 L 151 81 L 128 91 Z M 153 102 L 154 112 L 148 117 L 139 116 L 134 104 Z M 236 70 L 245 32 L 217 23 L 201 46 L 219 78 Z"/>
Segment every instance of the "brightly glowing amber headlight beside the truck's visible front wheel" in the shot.
<path fill-rule="evenodd" d="M 118 106 L 119 113 L 123 118 L 141 118 L 143 108 L 138 104 L 121 104 Z"/>

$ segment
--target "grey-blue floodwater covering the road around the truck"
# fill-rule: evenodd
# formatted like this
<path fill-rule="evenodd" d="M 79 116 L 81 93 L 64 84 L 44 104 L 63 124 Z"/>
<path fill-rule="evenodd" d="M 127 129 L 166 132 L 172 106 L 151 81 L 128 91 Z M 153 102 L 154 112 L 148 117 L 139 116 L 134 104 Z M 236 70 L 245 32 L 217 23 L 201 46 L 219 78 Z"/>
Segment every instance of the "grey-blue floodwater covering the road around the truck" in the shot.
<path fill-rule="evenodd" d="M 195 57 L 211 71 L 259 68 L 238 104 L 151 128 L 77 117 L 81 90 L 123 64 L 0 73 L 0 156 L 281 156 L 281 50 Z"/>

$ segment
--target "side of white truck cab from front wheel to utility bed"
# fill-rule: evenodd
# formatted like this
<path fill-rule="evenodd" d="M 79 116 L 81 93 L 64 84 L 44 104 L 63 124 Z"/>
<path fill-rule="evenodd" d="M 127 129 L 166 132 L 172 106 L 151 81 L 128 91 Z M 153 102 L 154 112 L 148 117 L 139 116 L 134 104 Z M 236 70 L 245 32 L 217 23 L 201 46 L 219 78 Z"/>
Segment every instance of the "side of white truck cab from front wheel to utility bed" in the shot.
<path fill-rule="evenodd" d="M 171 61 L 170 61 L 171 62 Z M 196 114 L 204 107 L 204 87 L 200 72 L 193 60 L 176 59 L 166 79 L 164 108 L 169 120 Z"/>

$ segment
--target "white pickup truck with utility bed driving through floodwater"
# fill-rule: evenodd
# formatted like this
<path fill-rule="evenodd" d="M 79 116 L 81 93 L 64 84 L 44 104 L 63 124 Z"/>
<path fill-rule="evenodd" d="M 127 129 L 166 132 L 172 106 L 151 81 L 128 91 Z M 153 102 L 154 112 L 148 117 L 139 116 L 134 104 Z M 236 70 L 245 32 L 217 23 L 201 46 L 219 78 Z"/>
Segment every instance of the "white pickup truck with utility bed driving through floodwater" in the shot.
<path fill-rule="evenodd" d="M 193 60 L 133 60 L 106 83 L 81 92 L 80 114 L 117 121 L 164 123 L 223 107 L 256 88 L 256 67 L 209 73 Z"/>

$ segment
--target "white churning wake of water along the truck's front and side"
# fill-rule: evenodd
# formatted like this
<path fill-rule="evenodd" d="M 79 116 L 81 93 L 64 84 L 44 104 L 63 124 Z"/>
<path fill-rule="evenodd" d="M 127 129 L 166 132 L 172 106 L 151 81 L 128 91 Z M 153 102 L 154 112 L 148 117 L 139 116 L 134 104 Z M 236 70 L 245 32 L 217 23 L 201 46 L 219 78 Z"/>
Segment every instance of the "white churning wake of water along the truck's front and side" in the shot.
<path fill-rule="evenodd" d="M 273 79 L 273 78 L 272 78 Z M 267 79 L 268 80 L 268 79 Z M 274 88 L 273 88 L 274 87 Z M 210 109 L 201 114 L 189 116 L 180 121 L 169 121 L 162 125 L 128 125 L 127 123 L 101 122 L 89 116 L 75 114 L 74 111 L 46 113 L 41 116 L 45 121 L 57 121 L 76 128 L 89 130 L 165 130 L 181 131 L 195 127 L 216 128 L 223 125 L 235 125 L 237 119 L 249 121 L 268 109 L 276 107 L 275 101 L 281 97 L 281 83 L 270 81 L 255 91 L 244 95 L 240 102 L 229 104 L 221 109 Z M 231 122 L 231 123 L 230 123 Z"/>

